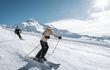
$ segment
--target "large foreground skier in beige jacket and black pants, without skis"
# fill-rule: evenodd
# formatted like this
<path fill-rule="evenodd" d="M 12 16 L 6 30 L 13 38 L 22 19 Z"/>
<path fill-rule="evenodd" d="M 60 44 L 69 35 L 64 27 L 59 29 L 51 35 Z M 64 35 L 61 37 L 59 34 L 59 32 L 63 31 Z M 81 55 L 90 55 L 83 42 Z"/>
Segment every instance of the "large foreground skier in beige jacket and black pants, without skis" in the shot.
<path fill-rule="evenodd" d="M 40 40 L 40 44 L 41 44 L 42 48 L 38 52 L 38 54 L 33 58 L 33 60 L 36 60 L 36 61 L 41 61 L 41 60 L 46 61 L 47 60 L 45 58 L 45 55 L 46 55 L 48 48 L 49 48 L 47 40 L 50 38 L 50 35 L 58 37 L 58 39 L 62 38 L 61 36 L 58 36 L 53 32 L 52 27 L 48 26 L 48 28 L 42 33 L 42 38 Z"/>

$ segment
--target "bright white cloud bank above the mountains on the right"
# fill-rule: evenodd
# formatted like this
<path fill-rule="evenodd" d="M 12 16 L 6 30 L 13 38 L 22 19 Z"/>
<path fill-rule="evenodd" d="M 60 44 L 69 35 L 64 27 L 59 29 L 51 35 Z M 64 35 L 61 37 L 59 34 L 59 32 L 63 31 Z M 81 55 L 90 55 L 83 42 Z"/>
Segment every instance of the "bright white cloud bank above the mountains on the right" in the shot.
<path fill-rule="evenodd" d="M 50 22 L 58 29 L 66 29 L 70 32 L 89 35 L 110 35 L 110 10 L 104 12 L 90 13 L 93 19 L 80 20 L 59 20 Z"/>

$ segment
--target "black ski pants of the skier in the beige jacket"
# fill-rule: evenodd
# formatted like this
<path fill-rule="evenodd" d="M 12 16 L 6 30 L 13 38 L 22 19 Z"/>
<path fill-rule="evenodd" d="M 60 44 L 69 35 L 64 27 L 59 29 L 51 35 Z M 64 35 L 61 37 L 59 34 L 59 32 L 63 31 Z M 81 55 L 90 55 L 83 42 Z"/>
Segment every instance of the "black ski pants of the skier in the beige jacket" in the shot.
<path fill-rule="evenodd" d="M 47 44 L 47 42 L 44 42 L 44 41 L 42 41 L 42 40 L 40 40 L 40 44 L 41 44 L 41 50 L 38 52 L 38 54 L 36 55 L 36 57 L 38 58 L 38 59 L 40 59 L 40 58 L 45 58 L 45 55 L 46 55 L 46 53 L 47 53 L 47 51 L 48 51 L 48 44 Z"/>

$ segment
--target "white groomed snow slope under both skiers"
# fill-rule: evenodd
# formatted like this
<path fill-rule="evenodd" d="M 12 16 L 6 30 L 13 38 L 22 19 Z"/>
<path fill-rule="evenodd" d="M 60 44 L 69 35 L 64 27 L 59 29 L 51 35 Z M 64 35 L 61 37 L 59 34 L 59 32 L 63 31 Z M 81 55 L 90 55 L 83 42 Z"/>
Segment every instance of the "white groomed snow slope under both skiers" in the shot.
<path fill-rule="evenodd" d="M 12 31 L 0 28 L 0 70 L 55 70 L 25 59 L 39 45 L 40 36 L 21 35 L 24 40 L 19 40 Z M 48 61 L 60 64 L 57 70 L 110 70 L 109 46 L 62 39 L 52 53 L 57 41 L 57 38 L 49 39 L 46 55 Z M 28 57 L 34 57 L 39 50 L 40 46 Z"/>

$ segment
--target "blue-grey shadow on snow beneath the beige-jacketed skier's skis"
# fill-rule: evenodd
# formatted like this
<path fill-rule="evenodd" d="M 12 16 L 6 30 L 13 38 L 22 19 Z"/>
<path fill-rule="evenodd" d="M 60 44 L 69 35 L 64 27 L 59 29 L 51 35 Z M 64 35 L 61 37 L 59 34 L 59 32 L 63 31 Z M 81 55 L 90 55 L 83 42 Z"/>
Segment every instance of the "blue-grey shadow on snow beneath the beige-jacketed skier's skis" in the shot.
<path fill-rule="evenodd" d="M 50 66 L 45 65 L 43 63 L 39 63 L 37 61 L 34 61 L 30 58 L 25 58 L 25 57 L 21 56 L 20 54 L 19 54 L 19 57 L 23 61 L 27 62 L 27 64 L 24 65 L 23 67 L 19 68 L 18 70 L 29 70 L 29 69 L 32 69 L 32 70 L 38 70 L 38 69 L 39 70 L 52 70 L 52 68 L 54 68 L 54 70 L 57 70 L 57 68 L 59 68 L 59 65 L 60 65 L 60 64 L 55 64 L 55 63 L 49 62 L 51 64 L 51 67 L 50 67 Z"/>

